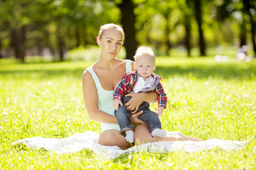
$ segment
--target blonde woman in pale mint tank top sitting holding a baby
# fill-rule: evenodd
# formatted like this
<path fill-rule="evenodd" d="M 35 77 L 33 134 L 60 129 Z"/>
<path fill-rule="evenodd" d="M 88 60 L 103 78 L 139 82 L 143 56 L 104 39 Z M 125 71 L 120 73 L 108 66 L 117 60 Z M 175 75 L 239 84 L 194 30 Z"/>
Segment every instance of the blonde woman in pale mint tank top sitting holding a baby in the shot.
<path fill-rule="evenodd" d="M 91 120 L 101 122 L 102 133 L 99 143 L 106 146 L 118 146 L 121 149 L 131 147 L 121 133 L 117 118 L 114 116 L 113 90 L 118 81 L 127 72 L 134 71 L 134 62 L 115 58 L 120 52 L 125 34 L 119 25 L 105 24 L 100 28 L 97 44 L 100 46 L 100 58 L 88 67 L 82 75 L 84 103 Z M 132 68 L 132 69 L 131 69 Z M 128 94 L 131 100 L 126 104 L 133 111 L 131 123 L 138 124 L 134 129 L 134 145 L 159 141 L 200 141 L 181 133 L 167 135 L 167 138 L 152 137 L 148 127 L 138 119 L 142 112 L 137 112 L 143 101 L 155 103 L 158 95 L 155 92 Z"/>

